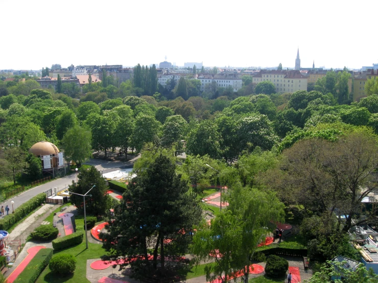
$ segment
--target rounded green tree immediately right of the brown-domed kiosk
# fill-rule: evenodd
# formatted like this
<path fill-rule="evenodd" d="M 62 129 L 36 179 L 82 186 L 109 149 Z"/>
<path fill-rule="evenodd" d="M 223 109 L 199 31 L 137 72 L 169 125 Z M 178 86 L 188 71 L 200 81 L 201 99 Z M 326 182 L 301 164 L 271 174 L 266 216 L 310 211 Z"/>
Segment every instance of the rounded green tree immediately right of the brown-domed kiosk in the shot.
<path fill-rule="evenodd" d="M 91 132 L 74 126 L 65 132 L 62 139 L 65 159 L 74 160 L 79 167 L 81 162 L 92 156 Z"/>

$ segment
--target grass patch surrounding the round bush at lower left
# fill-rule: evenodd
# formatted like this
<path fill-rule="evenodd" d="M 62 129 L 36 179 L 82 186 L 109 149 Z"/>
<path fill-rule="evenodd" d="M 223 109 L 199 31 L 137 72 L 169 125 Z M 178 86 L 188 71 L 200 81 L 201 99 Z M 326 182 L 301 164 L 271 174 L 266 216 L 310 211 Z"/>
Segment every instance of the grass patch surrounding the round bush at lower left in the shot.
<path fill-rule="evenodd" d="M 68 249 L 54 251 L 54 256 L 57 254 L 68 253 L 76 257 L 77 264 L 74 274 L 68 276 L 56 276 L 52 273 L 49 267 L 39 275 L 36 283 L 77 283 L 77 282 L 90 282 L 86 279 L 86 261 L 91 258 L 100 258 L 106 254 L 106 251 L 102 248 L 102 245 L 88 243 L 88 249 L 85 249 L 85 241 L 80 245 L 71 247 Z"/>

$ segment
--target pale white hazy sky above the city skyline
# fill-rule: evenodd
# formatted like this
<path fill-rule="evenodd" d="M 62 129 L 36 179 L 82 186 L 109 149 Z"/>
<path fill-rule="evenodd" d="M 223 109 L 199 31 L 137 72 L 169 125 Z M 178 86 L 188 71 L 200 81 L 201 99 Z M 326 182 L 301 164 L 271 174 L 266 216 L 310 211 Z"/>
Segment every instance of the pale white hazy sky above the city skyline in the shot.
<path fill-rule="evenodd" d="M 361 68 L 378 62 L 377 0 L 0 0 L 0 69 L 58 63 Z"/>

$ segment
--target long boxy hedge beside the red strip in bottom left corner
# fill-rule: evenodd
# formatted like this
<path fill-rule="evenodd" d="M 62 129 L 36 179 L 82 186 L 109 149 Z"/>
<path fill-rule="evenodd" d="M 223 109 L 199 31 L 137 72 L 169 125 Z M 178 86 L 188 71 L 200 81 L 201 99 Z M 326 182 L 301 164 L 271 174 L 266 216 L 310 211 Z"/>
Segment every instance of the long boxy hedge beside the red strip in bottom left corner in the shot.
<path fill-rule="evenodd" d="M 45 195 L 46 196 L 46 195 Z M 41 249 L 32 258 L 27 267 L 18 275 L 14 283 L 34 283 L 43 269 L 49 264 L 53 249 Z"/>

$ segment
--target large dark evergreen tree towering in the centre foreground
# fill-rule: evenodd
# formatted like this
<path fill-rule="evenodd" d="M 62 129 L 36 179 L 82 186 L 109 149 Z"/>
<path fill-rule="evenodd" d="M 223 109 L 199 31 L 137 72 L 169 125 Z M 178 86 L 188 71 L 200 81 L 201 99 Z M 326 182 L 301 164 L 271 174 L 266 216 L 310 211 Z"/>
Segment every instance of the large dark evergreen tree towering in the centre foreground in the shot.
<path fill-rule="evenodd" d="M 144 255 L 140 261 L 131 263 L 143 275 L 157 269 L 159 253 L 164 274 L 165 256 L 185 252 L 184 248 L 177 247 L 187 246 L 190 229 L 201 219 L 195 194 L 191 193 L 188 182 L 176 174 L 176 164 L 169 155 L 160 152 L 140 161 L 142 166 L 137 177 L 114 208 L 114 221 L 108 221 L 108 233 L 101 235 L 106 239 L 104 247 L 113 251 L 112 257 Z M 181 229 L 186 235 L 178 233 Z M 167 249 L 166 239 L 174 240 L 175 245 Z M 154 247 L 153 269 L 145 260 L 147 245 Z"/>

